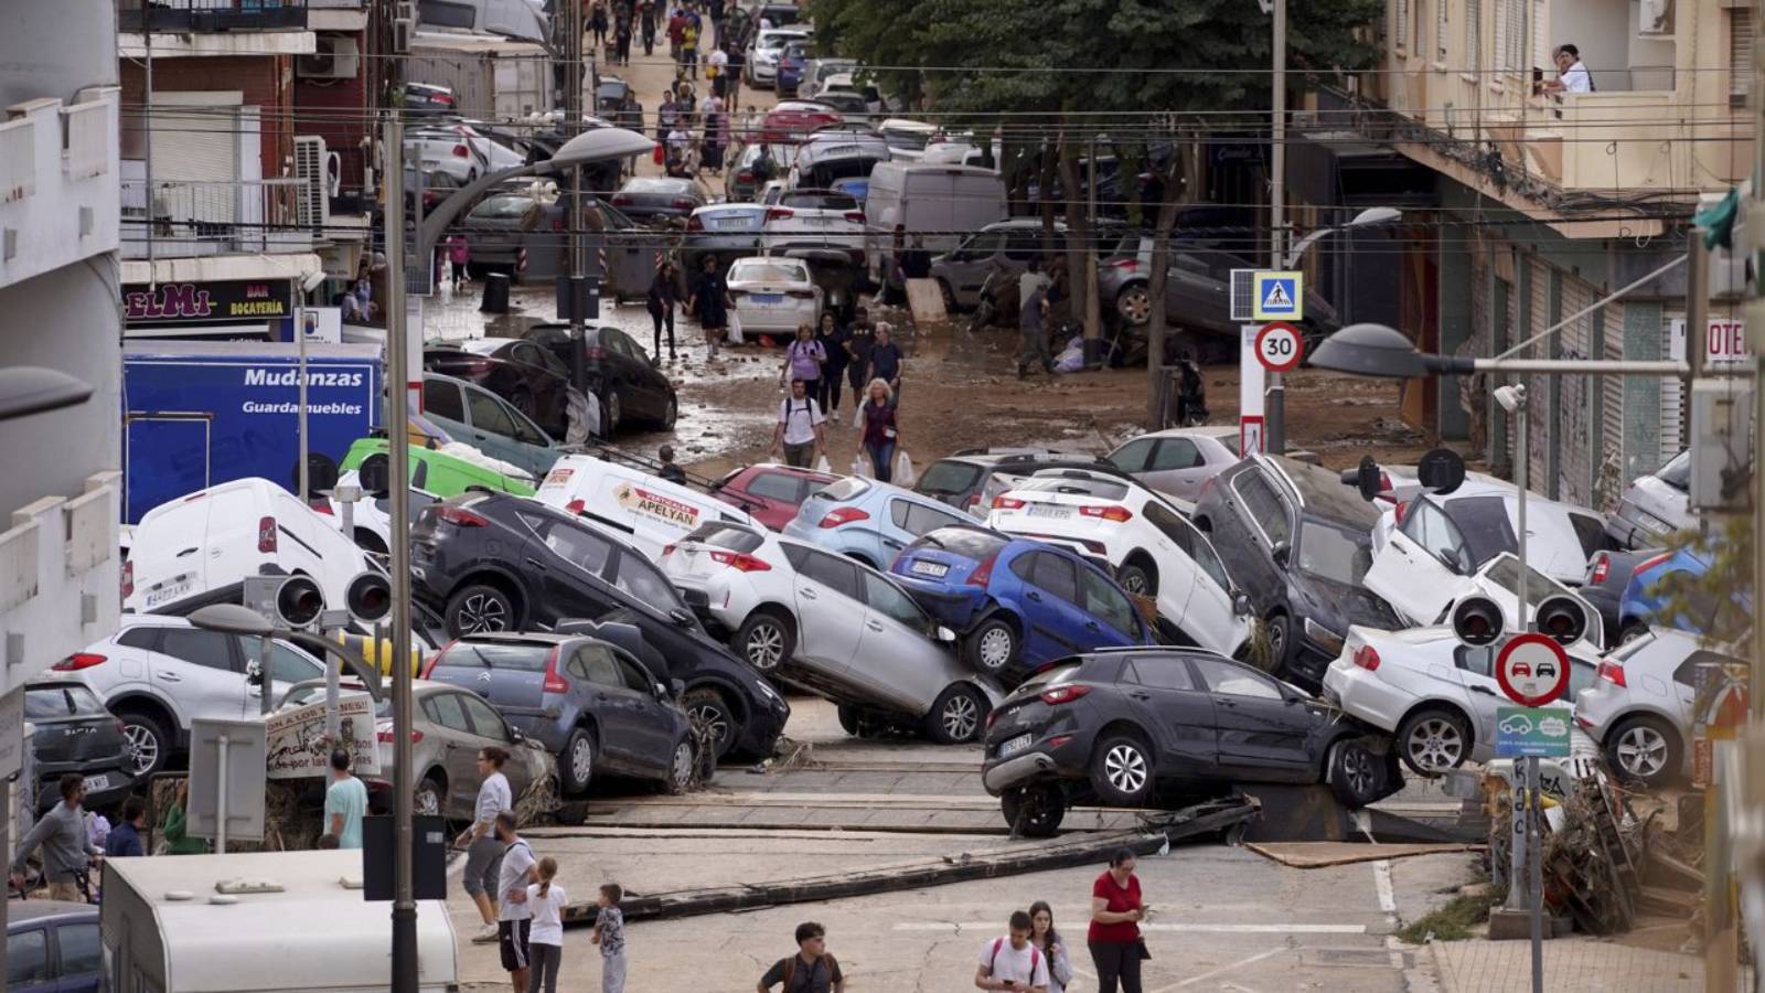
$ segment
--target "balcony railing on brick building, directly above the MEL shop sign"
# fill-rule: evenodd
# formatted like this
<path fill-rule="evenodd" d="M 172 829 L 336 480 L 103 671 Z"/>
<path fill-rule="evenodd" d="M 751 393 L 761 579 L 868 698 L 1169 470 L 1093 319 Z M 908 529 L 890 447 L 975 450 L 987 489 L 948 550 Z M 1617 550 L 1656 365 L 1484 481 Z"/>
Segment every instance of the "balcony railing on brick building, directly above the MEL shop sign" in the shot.
<path fill-rule="evenodd" d="M 300 228 L 297 198 L 304 180 L 146 180 L 122 182 L 122 256 L 159 258 L 309 251 L 312 230 Z"/>

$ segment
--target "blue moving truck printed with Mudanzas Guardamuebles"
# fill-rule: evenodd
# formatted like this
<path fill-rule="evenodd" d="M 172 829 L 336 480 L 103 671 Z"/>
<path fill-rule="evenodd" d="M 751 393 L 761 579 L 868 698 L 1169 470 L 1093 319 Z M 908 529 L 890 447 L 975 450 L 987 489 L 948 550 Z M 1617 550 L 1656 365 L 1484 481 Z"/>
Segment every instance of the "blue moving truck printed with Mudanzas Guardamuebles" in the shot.
<path fill-rule="evenodd" d="M 263 341 L 124 343 L 124 521 L 217 482 L 245 477 L 295 489 L 300 359 Z M 311 451 L 342 459 L 381 424 L 381 352 L 307 346 Z"/>

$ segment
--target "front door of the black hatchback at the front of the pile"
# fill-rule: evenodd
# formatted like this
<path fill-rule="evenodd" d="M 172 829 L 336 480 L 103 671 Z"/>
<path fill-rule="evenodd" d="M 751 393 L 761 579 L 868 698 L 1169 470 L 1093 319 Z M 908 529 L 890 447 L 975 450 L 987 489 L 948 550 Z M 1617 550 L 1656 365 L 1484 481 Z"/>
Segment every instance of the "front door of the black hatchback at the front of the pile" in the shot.
<path fill-rule="evenodd" d="M 1306 742 L 1311 714 L 1273 678 L 1246 666 L 1190 657 L 1214 703 L 1221 772 L 1246 779 L 1296 783 L 1315 774 Z"/>

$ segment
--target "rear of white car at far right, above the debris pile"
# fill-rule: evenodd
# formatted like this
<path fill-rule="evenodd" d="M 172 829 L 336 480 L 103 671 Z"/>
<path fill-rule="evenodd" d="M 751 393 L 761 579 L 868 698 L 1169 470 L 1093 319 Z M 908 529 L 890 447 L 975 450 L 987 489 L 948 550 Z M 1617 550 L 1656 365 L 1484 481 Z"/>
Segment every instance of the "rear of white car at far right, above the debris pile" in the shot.
<path fill-rule="evenodd" d="M 1746 668 L 1668 627 L 1649 629 L 1599 663 L 1599 677 L 1574 700 L 1574 723 L 1619 776 L 1659 786 L 1686 770 L 1700 663 Z"/>

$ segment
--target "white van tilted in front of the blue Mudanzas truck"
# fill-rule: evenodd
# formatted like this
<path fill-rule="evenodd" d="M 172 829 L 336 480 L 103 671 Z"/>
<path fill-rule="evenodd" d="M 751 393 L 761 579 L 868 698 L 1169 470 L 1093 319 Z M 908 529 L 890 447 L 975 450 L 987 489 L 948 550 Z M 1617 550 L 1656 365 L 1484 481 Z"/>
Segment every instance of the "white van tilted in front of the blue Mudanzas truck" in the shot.
<path fill-rule="evenodd" d="M 235 479 L 148 511 L 124 564 L 122 608 L 189 613 L 238 603 L 238 583 L 261 565 L 304 572 L 341 610 L 349 580 L 371 569 L 337 525 L 268 479 Z"/>

